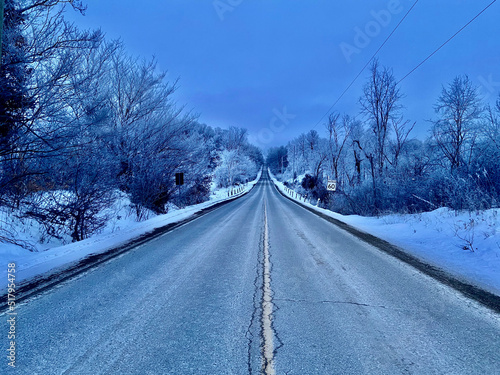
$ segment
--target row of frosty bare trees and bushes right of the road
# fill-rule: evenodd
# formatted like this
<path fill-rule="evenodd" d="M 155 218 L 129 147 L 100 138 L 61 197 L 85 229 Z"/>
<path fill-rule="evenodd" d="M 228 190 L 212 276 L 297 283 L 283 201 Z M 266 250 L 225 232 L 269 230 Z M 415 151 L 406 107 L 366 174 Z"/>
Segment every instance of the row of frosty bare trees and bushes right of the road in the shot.
<path fill-rule="evenodd" d="M 411 137 L 392 71 L 374 61 L 355 116 L 332 113 L 316 130 L 269 151 L 267 164 L 295 189 L 344 214 L 498 207 L 500 99 L 483 103 L 467 76 L 445 85 L 430 135 Z M 301 178 L 298 178 L 301 176 Z M 337 180 L 328 193 L 327 177 Z"/>

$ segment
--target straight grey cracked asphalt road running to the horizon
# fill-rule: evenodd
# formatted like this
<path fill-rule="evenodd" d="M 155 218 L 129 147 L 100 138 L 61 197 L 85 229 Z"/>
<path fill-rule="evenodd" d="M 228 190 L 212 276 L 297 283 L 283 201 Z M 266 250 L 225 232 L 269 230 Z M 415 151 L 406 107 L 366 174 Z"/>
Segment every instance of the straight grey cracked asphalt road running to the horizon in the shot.
<path fill-rule="evenodd" d="M 17 312 L 17 367 L 4 356 L 0 373 L 500 374 L 498 314 L 266 176 Z"/>

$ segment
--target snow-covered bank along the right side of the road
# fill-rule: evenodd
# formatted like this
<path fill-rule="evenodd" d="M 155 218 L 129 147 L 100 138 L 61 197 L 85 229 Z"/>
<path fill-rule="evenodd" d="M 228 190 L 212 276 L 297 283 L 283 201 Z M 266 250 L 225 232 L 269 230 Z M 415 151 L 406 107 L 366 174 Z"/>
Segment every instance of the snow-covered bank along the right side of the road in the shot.
<path fill-rule="evenodd" d="M 293 200 L 382 238 L 458 279 L 500 295 L 500 209 L 456 212 L 440 208 L 421 214 L 381 217 L 340 215 L 304 202 L 304 198 L 272 174 L 271 178 Z"/>

